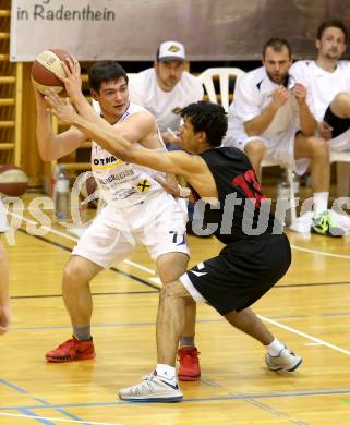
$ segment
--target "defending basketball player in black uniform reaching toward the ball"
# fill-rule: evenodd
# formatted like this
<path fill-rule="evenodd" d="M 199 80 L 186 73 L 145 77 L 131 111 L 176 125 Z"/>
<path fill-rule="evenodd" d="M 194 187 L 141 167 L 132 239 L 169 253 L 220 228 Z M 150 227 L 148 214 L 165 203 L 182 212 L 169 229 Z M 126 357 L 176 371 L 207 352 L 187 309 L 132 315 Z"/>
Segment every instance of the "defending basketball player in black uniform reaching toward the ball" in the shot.
<path fill-rule="evenodd" d="M 266 207 L 248 157 L 233 147 L 219 147 L 227 130 L 222 107 L 204 101 L 182 110 L 181 131 L 186 151 L 153 153 L 134 148 L 124 137 L 80 117 L 68 100 L 50 93 L 51 112 L 119 158 L 164 172 L 183 175 L 202 201 L 204 221 L 226 244 L 218 256 L 188 270 L 162 287 L 157 318 L 158 363 L 141 384 L 119 391 L 130 401 L 180 401 L 176 354 L 184 326 L 186 301 L 207 302 L 232 326 L 255 338 L 267 350 L 273 371 L 294 371 L 301 357 L 278 341 L 250 306 L 288 270 L 290 245 L 281 226 Z M 191 155 L 192 154 L 192 155 Z"/>

